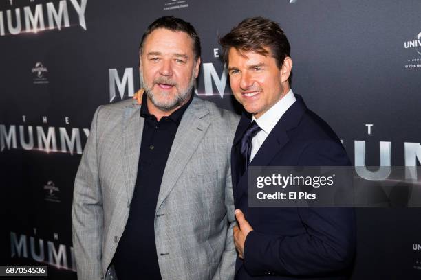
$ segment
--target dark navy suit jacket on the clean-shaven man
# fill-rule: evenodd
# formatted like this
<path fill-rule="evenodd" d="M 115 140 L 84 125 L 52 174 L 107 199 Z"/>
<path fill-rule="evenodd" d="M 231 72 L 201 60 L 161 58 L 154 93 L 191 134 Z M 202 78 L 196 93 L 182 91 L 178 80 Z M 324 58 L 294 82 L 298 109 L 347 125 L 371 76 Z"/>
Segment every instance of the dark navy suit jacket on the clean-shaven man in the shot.
<path fill-rule="evenodd" d="M 332 128 L 295 97 L 250 165 L 351 165 Z M 254 229 L 246 237 L 244 260 L 237 257 L 235 279 L 347 279 L 356 246 L 354 209 L 248 207 L 239 145 L 250 121 L 250 115 L 241 117 L 231 151 L 235 208 Z"/>

